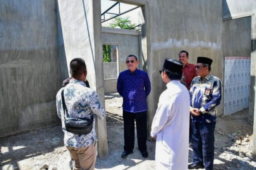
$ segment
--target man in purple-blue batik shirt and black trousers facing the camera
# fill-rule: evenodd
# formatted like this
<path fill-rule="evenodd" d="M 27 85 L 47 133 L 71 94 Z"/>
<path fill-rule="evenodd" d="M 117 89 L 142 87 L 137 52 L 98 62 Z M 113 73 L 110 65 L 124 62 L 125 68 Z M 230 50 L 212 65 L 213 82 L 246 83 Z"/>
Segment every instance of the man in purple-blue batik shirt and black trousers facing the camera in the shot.
<path fill-rule="evenodd" d="M 134 149 L 134 119 L 136 121 L 138 147 L 144 158 L 147 152 L 147 96 L 150 93 L 148 73 L 138 70 L 139 61 L 135 55 L 128 55 L 126 66 L 117 79 L 117 92 L 123 97 L 124 152 L 126 158 Z"/>

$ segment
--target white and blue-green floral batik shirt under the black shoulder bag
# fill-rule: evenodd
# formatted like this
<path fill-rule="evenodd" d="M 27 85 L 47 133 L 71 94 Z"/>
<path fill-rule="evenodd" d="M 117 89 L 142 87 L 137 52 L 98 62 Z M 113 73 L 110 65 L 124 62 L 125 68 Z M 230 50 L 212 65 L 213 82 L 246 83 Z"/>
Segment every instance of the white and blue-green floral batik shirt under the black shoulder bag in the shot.
<path fill-rule="evenodd" d="M 64 124 L 64 111 L 61 100 L 61 90 L 64 90 L 64 99 L 68 109 L 68 117 L 90 118 L 93 115 L 93 128 L 87 135 L 78 135 L 67 132 Z M 62 87 L 56 95 L 57 113 L 61 118 L 64 131 L 64 144 L 73 148 L 83 148 L 96 142 L 95 118 L 104 119 L 106 111 L 102 107 L 97 93 L 86 87 L 82 81 L 71 79 L 69 84 Z M 66 115 L 67 116 L 67 115 Z"/>

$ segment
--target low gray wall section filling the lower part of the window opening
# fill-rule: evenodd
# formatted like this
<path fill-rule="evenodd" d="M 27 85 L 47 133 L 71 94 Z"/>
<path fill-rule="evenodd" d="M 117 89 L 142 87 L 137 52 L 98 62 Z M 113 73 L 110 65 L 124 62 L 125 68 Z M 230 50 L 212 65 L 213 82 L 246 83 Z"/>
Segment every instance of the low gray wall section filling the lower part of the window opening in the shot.
<path fill-rule="evenodd" d="M 117 78 L 117 62 L 103 63 L 104 79 Z"/>

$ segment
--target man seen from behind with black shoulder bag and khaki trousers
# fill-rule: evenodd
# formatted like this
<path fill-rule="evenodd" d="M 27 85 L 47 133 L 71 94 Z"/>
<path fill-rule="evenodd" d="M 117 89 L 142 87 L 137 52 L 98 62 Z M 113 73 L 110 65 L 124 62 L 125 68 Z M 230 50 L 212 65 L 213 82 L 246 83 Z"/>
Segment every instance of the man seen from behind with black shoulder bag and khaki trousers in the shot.
<path fill-rule="evenodd" d="M 56 95 L 64 144 L 74 160 L 73 169 L 94 169 L 98 140 L 95 133 L 95 118 L 104 119 L 106 111 L 97 93 L 84 83 L 87 70 L 82 58 L 71 60 L 70 74 L 69 83 Z"/>

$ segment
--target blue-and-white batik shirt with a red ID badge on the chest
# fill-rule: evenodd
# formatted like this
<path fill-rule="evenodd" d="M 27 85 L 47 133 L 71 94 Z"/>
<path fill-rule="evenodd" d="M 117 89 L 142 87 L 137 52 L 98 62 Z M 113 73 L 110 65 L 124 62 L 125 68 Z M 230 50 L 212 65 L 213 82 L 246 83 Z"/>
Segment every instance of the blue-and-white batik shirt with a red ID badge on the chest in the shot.
<path fill-rule="evenodd" d="M 209 73 L 205 78 L 200 76 L 192 80 L 189 90 L 190 107 L 198 108 L 200 115 L 192 115 L 195 122 L 215 122 L 217 106 L 221 100 L 222 83 L 219 78 Z"/>

